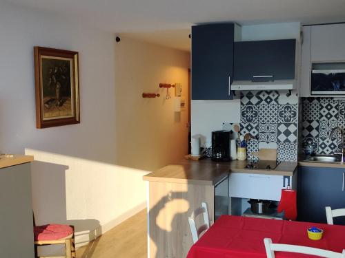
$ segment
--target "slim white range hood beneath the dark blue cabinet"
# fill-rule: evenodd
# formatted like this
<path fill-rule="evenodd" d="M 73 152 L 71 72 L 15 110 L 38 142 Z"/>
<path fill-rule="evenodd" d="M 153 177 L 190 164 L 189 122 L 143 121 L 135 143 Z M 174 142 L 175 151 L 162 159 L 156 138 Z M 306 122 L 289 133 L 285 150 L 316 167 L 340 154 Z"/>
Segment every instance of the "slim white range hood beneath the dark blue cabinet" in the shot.
<path fill-rule="evenodd" d="M 233 91 L 249 91 L 249 90 L 279 90 L 294 89 L 295 80 L 235 80 L 231 84 Z"/>

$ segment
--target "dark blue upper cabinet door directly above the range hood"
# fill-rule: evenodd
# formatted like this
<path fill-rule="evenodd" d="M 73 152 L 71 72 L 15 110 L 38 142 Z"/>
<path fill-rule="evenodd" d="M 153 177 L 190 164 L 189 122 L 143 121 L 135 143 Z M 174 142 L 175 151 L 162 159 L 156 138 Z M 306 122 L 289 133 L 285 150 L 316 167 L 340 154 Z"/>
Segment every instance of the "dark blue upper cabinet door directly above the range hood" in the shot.
<path fill-rule="evenodd" d="M 253 76 L 293 80 L 295 50 L 295 39 L 235 42 L 234 80 L 252 80 Z"/>

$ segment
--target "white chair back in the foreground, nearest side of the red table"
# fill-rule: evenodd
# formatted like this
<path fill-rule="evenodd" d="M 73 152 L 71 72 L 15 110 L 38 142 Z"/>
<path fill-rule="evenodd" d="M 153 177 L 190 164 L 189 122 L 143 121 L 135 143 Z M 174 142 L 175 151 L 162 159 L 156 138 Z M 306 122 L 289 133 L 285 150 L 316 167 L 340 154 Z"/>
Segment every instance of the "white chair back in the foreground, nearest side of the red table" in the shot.
<path fill-rule="evenodd" d="M 324 249 L 312 248 L 308 246 L 295 246 L 291 244 L 272 244 L 272 239 L 264 239 L 267 258 L 275 258 L 277 252 L 298 252 L 304 255 L 316 255 L 326 258 L 345 258 L 345 250 L 342 253 L 332 252 Z"/>

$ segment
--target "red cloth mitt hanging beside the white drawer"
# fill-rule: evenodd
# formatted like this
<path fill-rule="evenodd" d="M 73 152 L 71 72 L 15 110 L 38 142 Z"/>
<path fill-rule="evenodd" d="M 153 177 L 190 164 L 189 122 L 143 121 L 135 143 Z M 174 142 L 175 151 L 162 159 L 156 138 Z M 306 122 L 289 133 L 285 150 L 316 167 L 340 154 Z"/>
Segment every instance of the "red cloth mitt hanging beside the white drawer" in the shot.
<path fill-rule="evenodd" d="M 295 190 L 282 189 L 282 197 L 277 209 L 278 213 L 284 211 L 286 219 L 297 219 L 297 193 Z"/>

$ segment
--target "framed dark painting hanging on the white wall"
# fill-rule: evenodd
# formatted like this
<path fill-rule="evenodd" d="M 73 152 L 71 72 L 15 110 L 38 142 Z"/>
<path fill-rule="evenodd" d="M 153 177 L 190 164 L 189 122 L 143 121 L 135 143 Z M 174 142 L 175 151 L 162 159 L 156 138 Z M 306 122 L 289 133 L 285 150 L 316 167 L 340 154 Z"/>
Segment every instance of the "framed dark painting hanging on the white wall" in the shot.
<path fill-rule="evenodd" d="M 34 47 L 36 127 L 80 122 L 78 52 Z"/>

